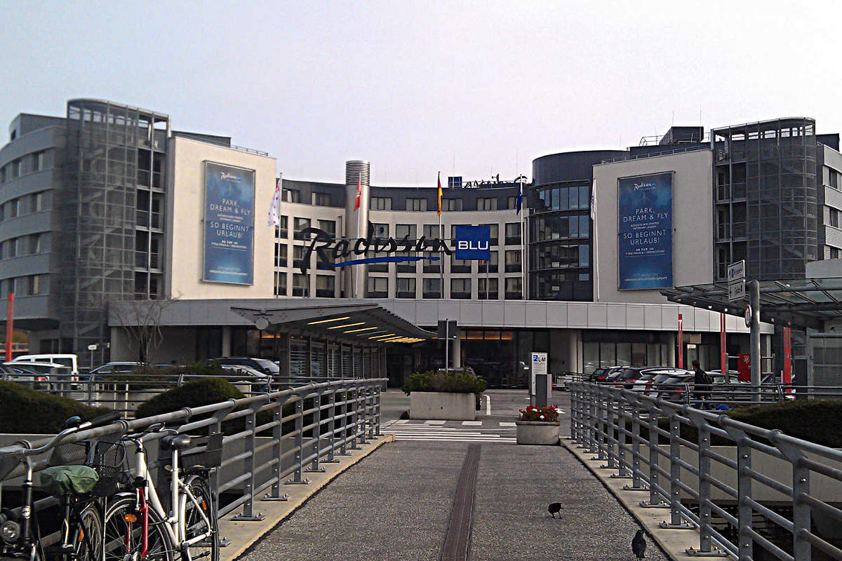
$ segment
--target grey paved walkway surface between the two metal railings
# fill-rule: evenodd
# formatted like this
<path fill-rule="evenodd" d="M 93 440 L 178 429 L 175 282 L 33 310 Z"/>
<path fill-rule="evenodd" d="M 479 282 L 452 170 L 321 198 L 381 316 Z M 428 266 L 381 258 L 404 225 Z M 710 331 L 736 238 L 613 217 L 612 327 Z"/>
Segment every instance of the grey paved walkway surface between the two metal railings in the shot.
<path fill-rule="evenodd" d="M 511 417 L 482 426 L 501 431 L 500 421 Z M 472 480 L 460 474 L 477 446 L 472 516 L 455 521 L 457 481 Z M 553 501 L 563 505 L 560 519 L 546 511 Z M 448 529 L 460 521 L 471 532 L 468 558 L 477 561 L 631 560 L 638 528 L 564 447 L 398 439 L 340 474 L 242 558 L 439 561 Z M 665 559 L 651 542 L 646 557 Z"/>

